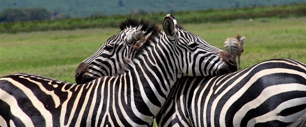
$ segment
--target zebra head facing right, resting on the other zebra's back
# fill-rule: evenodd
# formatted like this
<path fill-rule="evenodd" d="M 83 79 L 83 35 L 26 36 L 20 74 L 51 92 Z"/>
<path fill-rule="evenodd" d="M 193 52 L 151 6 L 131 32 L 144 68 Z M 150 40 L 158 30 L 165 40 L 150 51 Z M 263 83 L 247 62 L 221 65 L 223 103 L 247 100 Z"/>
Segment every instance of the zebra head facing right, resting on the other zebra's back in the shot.
<path fill-rule="evenodd" d="M 168 41 L 174 46 L 182 61 L 177 64 L 182 76 L 211 76 L 237 71 L 235 59 L 225 51 L 177 26 L 175 18 L 168 14 L 163 22 Z"/>

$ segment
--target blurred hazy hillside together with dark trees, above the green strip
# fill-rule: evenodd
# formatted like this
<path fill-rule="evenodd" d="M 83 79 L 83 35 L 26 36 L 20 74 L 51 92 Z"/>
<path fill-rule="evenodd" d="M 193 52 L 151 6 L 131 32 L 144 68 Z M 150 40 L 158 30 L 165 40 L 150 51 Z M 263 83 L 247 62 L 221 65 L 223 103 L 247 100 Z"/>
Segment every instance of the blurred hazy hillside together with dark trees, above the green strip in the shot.
<path fill-rule="evenodd" d="M 173 13 L 305 3 L 304 0 L 10 0 L 1 2 L 1 22 L 84 18 L 110 15 Z"/>

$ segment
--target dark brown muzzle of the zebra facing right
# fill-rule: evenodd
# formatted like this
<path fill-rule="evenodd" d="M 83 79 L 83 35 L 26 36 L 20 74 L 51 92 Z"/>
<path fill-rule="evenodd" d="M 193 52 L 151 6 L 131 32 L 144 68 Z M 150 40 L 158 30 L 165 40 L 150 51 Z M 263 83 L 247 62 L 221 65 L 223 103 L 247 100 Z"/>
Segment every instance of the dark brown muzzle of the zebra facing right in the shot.
<path fill-rule="evenodd" d="M 226 63 L 226 65 L 222 66 L 220 69 L 220 74 L 227 74 L 231 72 L 236 72 L 237 69 L 237 62 L 233 56 L 226 52 L 220 53 L 221 57 L 223 58 L 223 61 Z"/>

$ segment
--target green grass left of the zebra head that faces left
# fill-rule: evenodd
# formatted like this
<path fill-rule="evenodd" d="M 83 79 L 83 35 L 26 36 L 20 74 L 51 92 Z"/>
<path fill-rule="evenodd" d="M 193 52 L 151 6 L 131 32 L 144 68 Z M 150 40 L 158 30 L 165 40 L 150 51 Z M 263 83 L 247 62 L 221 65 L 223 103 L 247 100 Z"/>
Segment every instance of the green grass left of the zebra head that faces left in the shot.
<path fill-rule="evenodd" d="M 75 69 L 118 28 L 2 34 L 0 75 L 31 73 L 75 82 Z"/>

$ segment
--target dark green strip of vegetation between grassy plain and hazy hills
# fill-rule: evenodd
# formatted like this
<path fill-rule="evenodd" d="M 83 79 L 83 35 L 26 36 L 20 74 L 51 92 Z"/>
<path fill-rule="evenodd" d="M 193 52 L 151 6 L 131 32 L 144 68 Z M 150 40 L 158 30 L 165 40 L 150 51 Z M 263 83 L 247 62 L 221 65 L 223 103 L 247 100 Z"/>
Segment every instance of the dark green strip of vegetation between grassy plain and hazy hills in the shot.
<path fill-rule="evenodd" d="M 179 23 L 202 23 L 202 22 L 226 22 L 237 19 L 256 19 L 263 17 L 288 18 L 306 16 L 306 4 L 266 6 L 235 9 L 216 9 L 204 11 L 180 11 L 173 12 Z M 117 27 L 127 17 L 145 18 L 154 22 L 162 22 L 167 13 L 142 14 L 142 15 L 117 15 L 96 16 L 90 18 L 72 18 L 61 20 L 44 21 L 21 21 L 0 23 L 1 33 L 17 33 L 21 31 L 44 31 L 59 29 L 82 29 L 98 27 Z"/>

